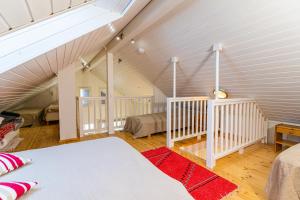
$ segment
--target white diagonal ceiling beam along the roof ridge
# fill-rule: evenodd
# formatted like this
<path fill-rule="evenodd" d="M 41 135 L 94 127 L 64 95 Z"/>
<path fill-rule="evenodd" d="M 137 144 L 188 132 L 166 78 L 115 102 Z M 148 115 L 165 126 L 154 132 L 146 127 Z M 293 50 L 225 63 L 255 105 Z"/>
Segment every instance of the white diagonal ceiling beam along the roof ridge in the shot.
<path fill-rule="evenodd" d="M 97 66 L 105 59 L 106 51 L 117 52 L 131 39 L 137 37 L 154 23 L 168 15 L 172 10 L 181 5 L 184 0 L 152 0 L 119 34 L 123 33 L 123 39 L 112 39 L 105 48 L 101 49 L 88 63 L 91 68 Z"/>

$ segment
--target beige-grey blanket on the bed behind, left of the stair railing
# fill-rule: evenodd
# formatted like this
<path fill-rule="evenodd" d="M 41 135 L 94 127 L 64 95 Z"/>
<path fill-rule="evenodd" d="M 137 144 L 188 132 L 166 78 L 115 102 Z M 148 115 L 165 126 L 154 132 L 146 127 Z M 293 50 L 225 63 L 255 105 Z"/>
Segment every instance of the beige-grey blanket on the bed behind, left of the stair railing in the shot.
<path fill-rule="evenodd" d="M 124 131 L 131 132 L 135 138 L 166 131 L 166 113 L 153 113 L 127 117 Z"/>

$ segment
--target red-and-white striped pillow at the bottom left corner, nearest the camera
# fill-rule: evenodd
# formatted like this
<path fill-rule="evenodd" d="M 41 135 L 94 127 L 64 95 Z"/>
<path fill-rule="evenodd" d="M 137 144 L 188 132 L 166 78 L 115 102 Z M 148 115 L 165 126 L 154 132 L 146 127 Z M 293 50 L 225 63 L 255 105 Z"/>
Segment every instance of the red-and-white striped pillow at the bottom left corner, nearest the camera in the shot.
<path fill-rule="evenodd" d="M 0 199 L 14 200 L 20 198 L 33 188 L 37 182 L 0 182 Z"/>

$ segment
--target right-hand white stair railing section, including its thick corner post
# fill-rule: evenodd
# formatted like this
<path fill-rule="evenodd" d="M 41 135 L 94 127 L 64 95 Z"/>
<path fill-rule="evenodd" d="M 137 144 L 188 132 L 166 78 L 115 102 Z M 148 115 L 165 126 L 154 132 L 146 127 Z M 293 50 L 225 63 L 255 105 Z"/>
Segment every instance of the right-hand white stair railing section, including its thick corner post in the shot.
<path fill-rule="evenodd" d="M 206 165 L 257 142 L 265 142 L 267 120 L 253 99 L 208 101 Z"/>

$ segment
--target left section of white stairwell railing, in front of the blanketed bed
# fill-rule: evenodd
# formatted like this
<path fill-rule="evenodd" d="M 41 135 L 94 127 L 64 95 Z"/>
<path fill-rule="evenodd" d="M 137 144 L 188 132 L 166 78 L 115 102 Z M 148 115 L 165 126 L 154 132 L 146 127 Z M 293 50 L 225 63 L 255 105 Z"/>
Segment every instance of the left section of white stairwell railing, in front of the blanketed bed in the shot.
<path fill-rule="evenodd" d="M 167 98 L 167 146 L 206 133 L 208 97 Z"/>

